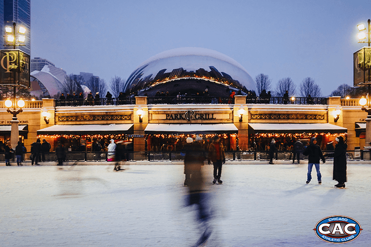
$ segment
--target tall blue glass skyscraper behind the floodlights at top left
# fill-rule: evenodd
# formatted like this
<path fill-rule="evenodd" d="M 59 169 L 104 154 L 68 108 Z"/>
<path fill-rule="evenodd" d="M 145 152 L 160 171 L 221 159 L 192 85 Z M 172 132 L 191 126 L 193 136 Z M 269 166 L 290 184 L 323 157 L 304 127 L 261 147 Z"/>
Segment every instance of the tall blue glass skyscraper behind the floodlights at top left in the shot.
<path fill-rule="evenodd" d="M 4 35 L 3 27 L 12 26 L 13 22 L 15 22 L 17 26 L 21 25 L 25 27 L 27 29 L 27 32 L 25 34 L 26 36 L 26 41 L 24 43 L 25 45 L 18 46 L 17 48 L 31 55 L 31 0 L 4 0 L 3 6 L 1 6 L 0 4 L 0 8 L 1 7 L 3 11 L 3 22 L 1 23 L 2 24 L 1 36 Z M 3 39 L 2 42 L 4 42 Z M 2 48 L 3 47 L 1 47 L 1 49 Z"/>

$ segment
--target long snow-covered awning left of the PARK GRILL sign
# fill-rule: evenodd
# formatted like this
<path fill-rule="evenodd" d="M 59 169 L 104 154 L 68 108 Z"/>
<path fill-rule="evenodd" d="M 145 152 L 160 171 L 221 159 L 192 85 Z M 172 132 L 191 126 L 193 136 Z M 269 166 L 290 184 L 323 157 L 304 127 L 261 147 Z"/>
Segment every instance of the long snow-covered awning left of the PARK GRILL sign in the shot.
<path fill-rule="evenodd" d="M 38 135 L 133 134 L 134 124 L 63 124 L 39 129 Z"/>

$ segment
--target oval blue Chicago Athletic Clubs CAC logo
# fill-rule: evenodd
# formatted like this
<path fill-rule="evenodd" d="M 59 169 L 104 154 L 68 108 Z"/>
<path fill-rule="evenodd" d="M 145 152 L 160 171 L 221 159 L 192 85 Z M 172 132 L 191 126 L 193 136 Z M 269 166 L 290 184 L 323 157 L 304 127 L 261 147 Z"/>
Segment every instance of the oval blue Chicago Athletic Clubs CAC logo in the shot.
<path fill-rule="evenodd" d="M 362 228 L 357 221 L 346 216 L 330 216 L 317 223 L 317 236 L 329 243 L 346 243 L 355 240 Z"/>

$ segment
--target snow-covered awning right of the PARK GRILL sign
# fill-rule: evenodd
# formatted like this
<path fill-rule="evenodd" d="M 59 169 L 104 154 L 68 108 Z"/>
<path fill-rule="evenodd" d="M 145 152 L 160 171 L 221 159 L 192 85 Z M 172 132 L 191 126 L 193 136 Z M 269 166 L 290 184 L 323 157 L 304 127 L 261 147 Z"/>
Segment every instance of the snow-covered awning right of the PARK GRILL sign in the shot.
<path fill-rule="evenodd" d="M 344 133 L 347 128 L 334 124 L 249 124 L 249 131 L 257 133 Z"/>

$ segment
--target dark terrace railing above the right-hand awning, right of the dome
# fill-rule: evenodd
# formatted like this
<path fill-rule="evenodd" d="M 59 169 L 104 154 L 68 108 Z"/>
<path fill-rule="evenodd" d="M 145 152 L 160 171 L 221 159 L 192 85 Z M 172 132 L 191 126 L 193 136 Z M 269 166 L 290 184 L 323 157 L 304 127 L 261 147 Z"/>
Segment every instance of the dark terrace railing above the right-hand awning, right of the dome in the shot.
<path fill-rule="evenodd" d="M 246 104 L 326 105 L 327 98 L 248 97 L 246 98 Z"/>

